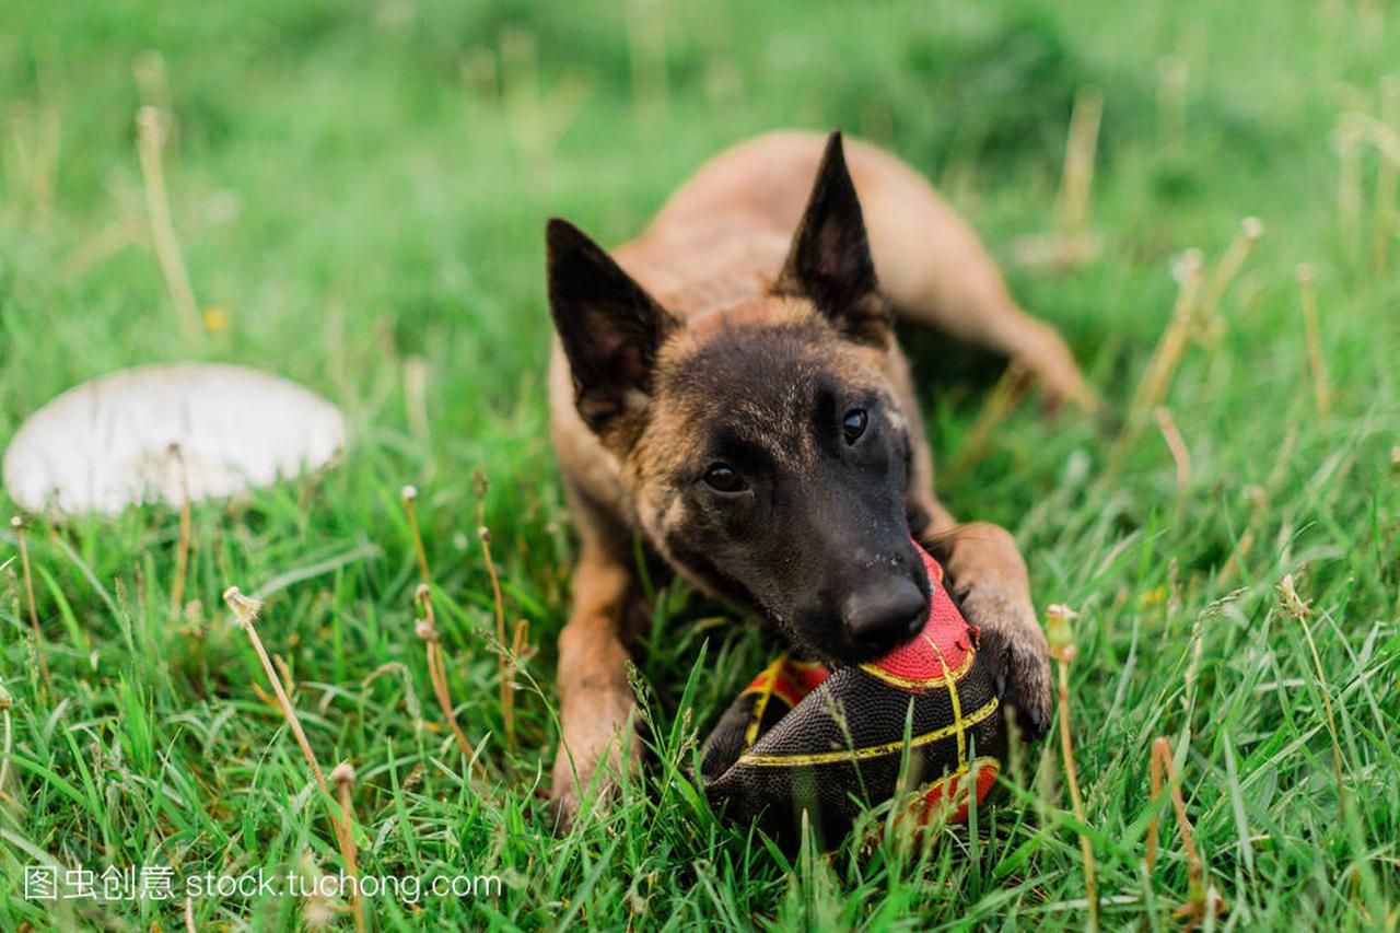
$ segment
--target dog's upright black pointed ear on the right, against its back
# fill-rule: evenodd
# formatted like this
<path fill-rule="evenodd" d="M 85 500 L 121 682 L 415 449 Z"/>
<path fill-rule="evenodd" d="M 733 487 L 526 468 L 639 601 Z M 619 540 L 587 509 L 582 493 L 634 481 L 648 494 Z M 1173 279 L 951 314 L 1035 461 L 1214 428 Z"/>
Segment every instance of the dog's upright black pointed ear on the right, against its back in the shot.
<path fill-rule="evenodd" d="M 889 340 L 889 304 L 875 279 L 865 219 L 846 168 L 840 130 L 826 139 L 816 184 L 773 291 L 809 298 L 853 340 L 874 346 L 886 346 Z"/>

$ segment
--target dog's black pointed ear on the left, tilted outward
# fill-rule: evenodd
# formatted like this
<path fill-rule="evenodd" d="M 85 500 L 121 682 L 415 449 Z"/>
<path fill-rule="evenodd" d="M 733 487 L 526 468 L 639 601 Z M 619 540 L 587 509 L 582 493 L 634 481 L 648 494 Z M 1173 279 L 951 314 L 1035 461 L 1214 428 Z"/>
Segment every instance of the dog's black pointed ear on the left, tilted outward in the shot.
<path fill-rule="evenodd" d="M 574 402 L 605 440 L 651 399 L 672 318 L 608 252 L 557 217 L 546 228 L 549 307 L 574 378 Z"/>

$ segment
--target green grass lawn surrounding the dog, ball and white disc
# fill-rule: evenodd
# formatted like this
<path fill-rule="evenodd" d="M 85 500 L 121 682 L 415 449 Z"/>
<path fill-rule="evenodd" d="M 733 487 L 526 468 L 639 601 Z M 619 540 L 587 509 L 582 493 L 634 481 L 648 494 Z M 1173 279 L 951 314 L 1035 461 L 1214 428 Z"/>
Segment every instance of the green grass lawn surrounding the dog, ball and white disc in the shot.
<path fill-rule="evenodd" d="M 543 221 L 564 214 L 617 241 L 724 144 L 840 125 L 945 189 L 1119 415 L 1170 312 L 1172 258 L 1198 247 L 1214 263 L 1242 217 L 1267 223 L 1218 336 L 1187 349 L 1166 396 L 1190 450 L 1186 489 L 1155 427 L 1110 469 L 1110 434 L 1026 405 L 941 492 L 958 514 L 1016 534 L 1040 605 L 1079 612 L 1070 705 L 1106 926 L 1175 927 L 1190 897 L 1169 807 L 1148 800 L 1148 748 L 1166 735 L 1208 881 L 1229 905 L 1222 925 L 1394 929 L 1400 240 L 1382 233 L 1373 262 L 1369 144 L 1359 224 L 1338 209 L 1336 130 L 1347 113 L 1380 113 L 1397 15 L 1263 0 L 8 4 L 0 443 L 81 380 L 190 357 L 301 380 L 346 409 L 354 436 L 319 482 L 195 510 L 185 609 L 168 595 L 176 514 L 35 518 L 50 689 L 15 538 L 0 532 L 14 698 L 0 927 L 183 922 L 178 901 L 25 901 L 22 867 L 39 862 L 172 866 L 179 878 L 340 869 L 220 601 L 230 584 L 270 581 L 262 633 L 291 670 L 311 742 L 323 766 L 351 759 L 360 775 L 363 870 L 504 883 L 498 897 L 374 899 L 382 929 L 1082 927 L 1081 827 L 1053 742 L 1012 769 L 976 831 L 951 829 L 924 856 L 881 846 L 790 864 L 720 825 L 675 765 L 764 647 L 679 590 L 658 598 L 640 665 L 661 763 L 606 818 L 567 839 L 547 831 L 553 636 L 574 544 L 546 438 Z M 146 50 L 168 76 L 167 171 L 195 290 L 228 315 L 199 338 L 182 335 L 150 247 L 133 130 Z M 1161 77 L 1173 70 L 1180 94 Z M 1103 251 L 1058 273 L 1018 265 L 1015 241 L 1053 226 L 1085 85 L 1105 95 L 1092 217 Z M 1327 423 L 1294 277 L 1303 261 L 1317 275 Z M 995 367 L 914 345 L 949 462 Z M 427 436 L 403 388 L 416 360 Z M 475 471 L 490 479 L 480 509 L 510 614 L 529 619 L 538 649 L 521 675 L 518 749 L 501 741 Z M 398 499 L 410 482 L 484 787 L 463 779 L 413 636 L 417 570 Z M 1315 609 L 1306 623 L 1277 605 L 1285 573 Z M 1154 813 L 1163 838 L 1148 876 Z M 193 902 L 202 929 L 295 926 L 307 912 L 291 898 Z"/>

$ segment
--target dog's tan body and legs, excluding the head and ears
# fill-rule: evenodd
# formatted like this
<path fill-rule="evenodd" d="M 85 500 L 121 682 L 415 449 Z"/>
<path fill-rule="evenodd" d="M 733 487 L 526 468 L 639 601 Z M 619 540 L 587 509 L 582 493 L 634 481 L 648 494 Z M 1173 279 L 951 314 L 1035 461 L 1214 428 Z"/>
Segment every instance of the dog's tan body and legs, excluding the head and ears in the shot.
<path fill-rule="evenodd" d="M 822 153 L 820 136 L 795 132 L 731 148 L 682 186 L 641 237 L 613 252 L 680 324 L 661 347 L 658 370 L 679 366 L 729 328 L 798 322 L 813 314 L 809 303 L 776 289 L 774 279 Z M 1064 342 L 1015 304 L 977 237 L 934 189 L 874 146 L 848 140 L 846 158 L 881 290 L 896 312 L 1021 360 L 1051 399 L 1091 405 Z M 935 497 L 932 457 L 903 354 L 892 340 L 889 347 L 847 343 L 832 352 L 830 363 L 846 367 L 853 380 L 868 382 L 878 374 L 897 395 L 914 450 L 910 507 L 931 520 L 925 541 L 944 560 L 969 619 L 1004 640 L 1018 702 L 1033 706 L 1036 717 L 1047 716 L 1046 646 L 1025 565 L 1007 531 L 959 524 Z M 648 500 L 648 483 L 659 482 L 668 461 L 692 455 L 683 410 L 666 413 L 673 423 L 648 424 L 640 438 L 620 444 L 585 423 L 575 392 L 556 339 L 552 433 L 581 538 L 573 615 L 559 642 L 563 741 L 553 796 L 566 820 L 599 765 L 610 758 L 612 769 L 620 766 L 629 744 L 623 741 L 633 710 L 627 644 L 647 618 L 634 573 L 634 535 L 640 527 L 654 545 L 662 537 L 654 525 L 669 518 L 658 511 L 659 500 Z"/>

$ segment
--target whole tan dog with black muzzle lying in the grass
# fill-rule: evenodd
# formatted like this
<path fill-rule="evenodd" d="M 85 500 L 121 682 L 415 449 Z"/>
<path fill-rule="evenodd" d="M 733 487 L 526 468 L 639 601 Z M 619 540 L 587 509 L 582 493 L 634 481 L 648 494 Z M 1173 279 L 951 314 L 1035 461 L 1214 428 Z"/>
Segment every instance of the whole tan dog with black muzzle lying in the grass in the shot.
<path fill-rule="evenodd" d="M 658 565 L 833 664 L 918 630 L 930 593 L 913 535 L 981 628 L 1002 702 L 1044 731 L 1025 563 L 1007 531 L 959 524 L 934 495 L 895 317 L 1019 359 L 1054 401 L 1092 398 L 923 178 L 840 133 L 777 133 L 717 157 L 612 255 L 564 220 L 547 245 L 552 433 L 581 538 L 559 639 L 564 825 L 636 755 L 638 534 Z"/>

